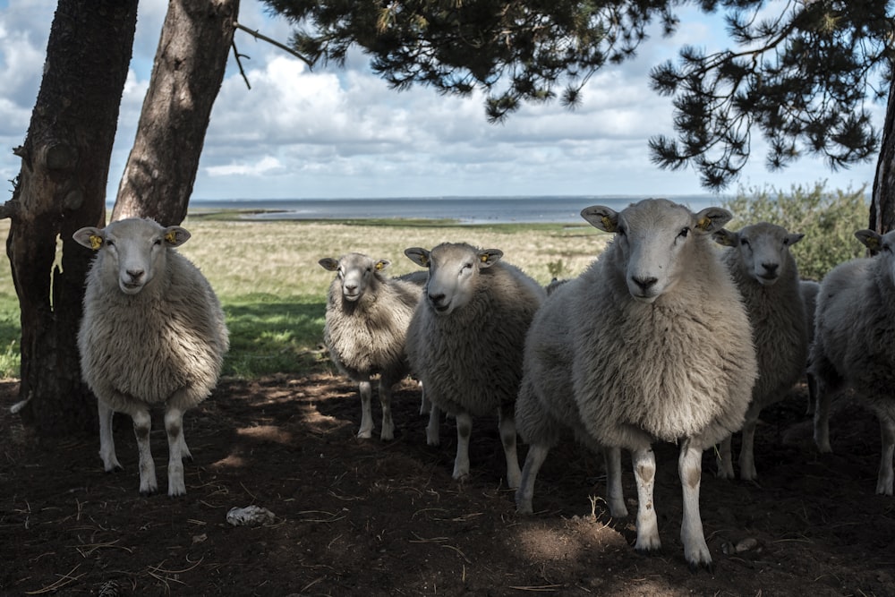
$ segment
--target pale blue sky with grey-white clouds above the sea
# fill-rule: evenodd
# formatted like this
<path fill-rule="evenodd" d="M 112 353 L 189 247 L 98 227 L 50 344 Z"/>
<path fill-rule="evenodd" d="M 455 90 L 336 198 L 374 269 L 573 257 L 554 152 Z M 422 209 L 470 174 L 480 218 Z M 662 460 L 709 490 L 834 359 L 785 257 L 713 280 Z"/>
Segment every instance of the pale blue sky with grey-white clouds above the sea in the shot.
<path fill-rule="evenodd" d="M 290 27 L 257 0 L 242 0 L 240 22 L 286 41 Z M 131 148 L 155 55 L 166 0 L 140 0 L 133 60 L 109 174 L 115 197 Z M 53 0 L 0 0 L 0 175 L 18 174 L 12 148 L 28 131 L 53 19 Z M 444 98 L 432 90 L 389 90 L 360 54 L 343 70 L 311 72 L 299 60 L 236 33 L 247 89 L 231 58 L 211 117 L 194 199 L 302 199 L 482 195 L 686 195 L 706 192 L 692 169 L 653 166 L 647 141 L 673 134 L 669 98 L 649 89 L 648 72 L 684 43 L 709 49 L 723 40 L 718 22 L 681 13 L 675 38 L 658 31 L 634 62 L 607 68 L 569 112 L 557 103 L 524 107 L 488 124 L 482 98 Z M 874 107 L 880 125 L 884 107 Z M 763 149 L 739 184 L 788 190 L 826 181 L 831 189 L 868 187 L 874 163 L 832 173 L 803 158 L 769 173 Z M 737 189 L 729 189 L 735 192 Z"/>

